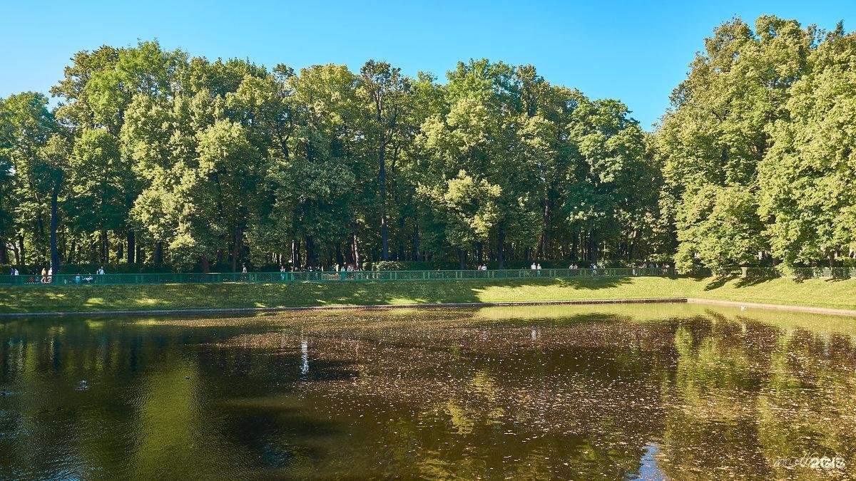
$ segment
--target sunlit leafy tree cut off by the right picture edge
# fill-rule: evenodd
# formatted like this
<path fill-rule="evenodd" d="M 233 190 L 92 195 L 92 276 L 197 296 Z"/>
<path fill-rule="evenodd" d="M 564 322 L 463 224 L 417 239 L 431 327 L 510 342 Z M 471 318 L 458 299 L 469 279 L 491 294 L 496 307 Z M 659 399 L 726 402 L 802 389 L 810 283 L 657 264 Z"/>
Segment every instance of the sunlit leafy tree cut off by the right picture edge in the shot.
<path fill-rule="evenodd" d="M 856 250 L 854 99 L 856 37 L 839 24 L 808 57 L 758 167 L 770 248 L 788 265 L 823 258 L 832 265 Z"/>

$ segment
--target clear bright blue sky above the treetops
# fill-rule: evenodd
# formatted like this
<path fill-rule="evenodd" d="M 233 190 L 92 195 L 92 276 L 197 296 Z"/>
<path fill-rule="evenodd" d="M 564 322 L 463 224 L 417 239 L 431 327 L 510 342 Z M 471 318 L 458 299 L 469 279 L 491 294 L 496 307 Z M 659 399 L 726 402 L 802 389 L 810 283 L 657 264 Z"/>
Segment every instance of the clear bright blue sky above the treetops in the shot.
<path fill-rule="evenodd" d="M 444 80 L 459 60 L 532 63 L 554 84 L 618 98 L 650 128 L 703 39 L 739 15 L 856 28 L 854 0 L 518 1 L 425 3 L 0 0 L 0 97 L 47 92 L 68 58 L 99 45 L 158 39 L 193 56 L 294 68 L 369 58 Z"/>

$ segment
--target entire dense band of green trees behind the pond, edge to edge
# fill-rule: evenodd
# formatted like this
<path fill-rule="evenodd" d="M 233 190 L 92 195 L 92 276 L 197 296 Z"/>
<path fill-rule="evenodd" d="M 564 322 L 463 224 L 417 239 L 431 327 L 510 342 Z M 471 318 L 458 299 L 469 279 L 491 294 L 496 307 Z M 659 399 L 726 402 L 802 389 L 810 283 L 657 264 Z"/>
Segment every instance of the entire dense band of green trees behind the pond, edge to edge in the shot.
<path fill-rule="evenodd" d="M 653 134 L 529 65 L 461 62 L 441 83 L 371 60 L 81 51 L 55 107 L 0 100 L 0 264 L 841 262 L 853 41 L 729 21 Z"/>

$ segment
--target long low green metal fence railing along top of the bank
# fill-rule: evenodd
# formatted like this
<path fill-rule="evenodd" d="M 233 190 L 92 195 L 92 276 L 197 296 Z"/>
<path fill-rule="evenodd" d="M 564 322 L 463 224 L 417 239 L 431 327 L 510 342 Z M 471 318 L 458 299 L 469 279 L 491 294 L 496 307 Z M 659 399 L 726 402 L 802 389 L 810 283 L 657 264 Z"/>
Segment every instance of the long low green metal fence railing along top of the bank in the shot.
<path fill-rule="evenodd" d="M 388 282 L 441 281 L 478 279 L 537 279 L 539 277 L 627 277 L 675 276 L 674 269 L 604 268 L 604 269 L 505 269 L 505 270 L 356 270 L 336 272 L 315 270 L 300 272 L 225 272 L 201 274 L 56 274 L 54 276 L 0 276 L 0 285 L 12 286 L 87 286 L 122 284 L 211 284 L 223 282 L 288 283 L 288 282 Z"/>

